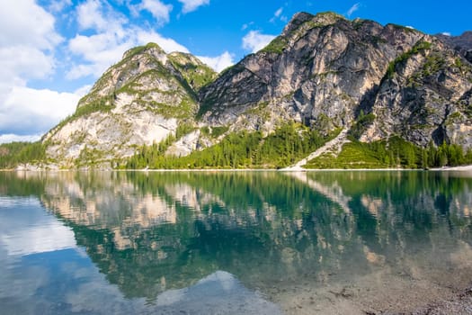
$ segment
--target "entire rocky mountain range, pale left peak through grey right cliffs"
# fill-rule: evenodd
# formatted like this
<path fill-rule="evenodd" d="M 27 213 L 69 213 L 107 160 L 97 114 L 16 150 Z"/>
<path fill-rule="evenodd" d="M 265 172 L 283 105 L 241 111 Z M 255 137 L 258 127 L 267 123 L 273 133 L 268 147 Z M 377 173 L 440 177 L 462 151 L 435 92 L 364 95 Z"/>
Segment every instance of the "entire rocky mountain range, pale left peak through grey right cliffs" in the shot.
<path fill-rule="evenodd" d="M 467 38 L 449 40 L 465 45 Z M 142 145 L 153 143 L 158 154 L 189 156 L 243 131 L 257 132 L 260 148 L 292 121 L 301 138 L 305 130 L 324 141 L 338 135 L 340 150 L 349 140 L 392 137 L 417 148 L 432 142 L 467 150 L 472 63 L 464 49 L 333 13 L 294 15 L 267 47 L 219 75 L 189 54 L 148 44 L 127 51 L 42 142 L 50 161 L 80 166 L 144 155 Z M 282 166 L 315 148 L 300 145 Z"/>

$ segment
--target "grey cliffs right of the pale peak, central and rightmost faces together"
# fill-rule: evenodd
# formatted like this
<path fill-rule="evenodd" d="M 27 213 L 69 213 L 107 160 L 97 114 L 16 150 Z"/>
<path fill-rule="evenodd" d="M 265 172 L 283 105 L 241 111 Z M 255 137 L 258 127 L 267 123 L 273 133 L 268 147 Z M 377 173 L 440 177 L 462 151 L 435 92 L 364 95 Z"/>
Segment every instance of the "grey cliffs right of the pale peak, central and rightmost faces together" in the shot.
<path fill-rule="evenodd" d="M 234 130 L 290 119 L 327 132 L 351 128 L 362 111 L 377 117 L 362 140 L 400 134 L 470 148 L 471 66 L 420 31 L 296 14 L 269 46 L 200 91 L 200 113 Z"/>

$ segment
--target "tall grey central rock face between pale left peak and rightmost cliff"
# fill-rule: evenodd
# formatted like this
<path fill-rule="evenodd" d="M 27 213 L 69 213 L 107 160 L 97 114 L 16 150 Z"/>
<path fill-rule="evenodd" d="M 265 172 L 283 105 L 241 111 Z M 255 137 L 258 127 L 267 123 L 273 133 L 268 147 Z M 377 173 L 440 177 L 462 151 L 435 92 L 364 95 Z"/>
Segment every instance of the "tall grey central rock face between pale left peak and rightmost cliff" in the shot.
<path fill-rule="evenodd" d="M 200 112 L 210 124 L 245 120 L 254 128 L 254 109 L 272 121 L 293 118 L 325 130 L 349 125 L 389 62 L 423 36 L 336 14 L 296 14 L 269 46 L 200 91 Z"/>

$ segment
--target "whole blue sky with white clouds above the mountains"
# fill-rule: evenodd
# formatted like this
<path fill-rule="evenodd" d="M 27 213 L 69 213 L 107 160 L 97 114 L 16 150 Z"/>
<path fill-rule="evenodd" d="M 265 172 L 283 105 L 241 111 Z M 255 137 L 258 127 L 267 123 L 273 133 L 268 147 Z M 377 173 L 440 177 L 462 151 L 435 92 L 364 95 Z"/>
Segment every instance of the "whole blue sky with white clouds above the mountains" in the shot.
<path fill-rule="evenodd" d="M 470 0 L 0 0 L 0 143 L 40 139 L 127 49 L 152 41 L 220 71 L 300 11 L 429 34 L 472 30 Z"/>

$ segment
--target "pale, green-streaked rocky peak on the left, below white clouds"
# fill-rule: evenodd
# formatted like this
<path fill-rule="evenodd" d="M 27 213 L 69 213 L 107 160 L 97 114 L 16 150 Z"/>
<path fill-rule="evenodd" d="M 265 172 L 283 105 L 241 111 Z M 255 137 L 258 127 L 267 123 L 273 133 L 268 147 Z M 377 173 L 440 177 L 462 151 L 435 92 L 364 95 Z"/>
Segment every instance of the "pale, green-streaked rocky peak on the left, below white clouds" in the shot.
<path fill-rule="evenodd" d="M 195 122 L 195 91 L 214 76 L 189 54 L 165 54 L 156 44 L 130 49 L 80 100 L 76 113 L 45 135 L 47 154 L 62 164 L 87 164 L 159 143 L 180 123 Z"/>

